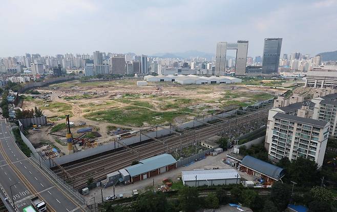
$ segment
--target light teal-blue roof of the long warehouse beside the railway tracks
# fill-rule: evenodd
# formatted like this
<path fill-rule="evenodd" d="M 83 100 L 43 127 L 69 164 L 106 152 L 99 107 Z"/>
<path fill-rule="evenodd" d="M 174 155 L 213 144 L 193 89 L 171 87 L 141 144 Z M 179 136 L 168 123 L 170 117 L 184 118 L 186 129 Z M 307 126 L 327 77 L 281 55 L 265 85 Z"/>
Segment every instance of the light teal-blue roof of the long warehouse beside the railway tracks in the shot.
<path fill-rule="evenodd" d="M 139 164 L 126 167 L 125 169 L 129 172 L 131 177 L 158 169 L 167 165 L 176 163 L 176 159 L 169 154 L 162 154 L 152 158 L 139 161 Z"/>

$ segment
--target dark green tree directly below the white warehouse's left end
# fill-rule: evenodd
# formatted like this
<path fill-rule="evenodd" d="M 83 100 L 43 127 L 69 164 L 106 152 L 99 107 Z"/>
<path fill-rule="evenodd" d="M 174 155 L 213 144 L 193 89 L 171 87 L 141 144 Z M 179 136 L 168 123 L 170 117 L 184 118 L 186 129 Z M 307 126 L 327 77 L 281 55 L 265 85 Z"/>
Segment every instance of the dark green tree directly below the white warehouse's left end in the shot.
<path fill-rule="evenodd" d="M 186 212 L 199 209 L 198 190 L 196 187 L 187 187 L 179 191 L 179 207 Z"/>

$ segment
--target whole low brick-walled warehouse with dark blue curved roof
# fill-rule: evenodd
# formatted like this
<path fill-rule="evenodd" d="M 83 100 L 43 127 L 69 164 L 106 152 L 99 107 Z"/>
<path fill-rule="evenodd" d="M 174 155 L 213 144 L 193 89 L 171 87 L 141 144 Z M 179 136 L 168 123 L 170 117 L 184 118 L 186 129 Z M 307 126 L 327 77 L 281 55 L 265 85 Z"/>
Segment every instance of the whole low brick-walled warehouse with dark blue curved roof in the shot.
<path fill-rule="evenodd" d="M 283 168 L 251 156 L 245 156 L 240 165 L 240 171 L 256 177 L 262 177 L 264 182 L 269 185 L 279 181 L 285 174 Z"/>

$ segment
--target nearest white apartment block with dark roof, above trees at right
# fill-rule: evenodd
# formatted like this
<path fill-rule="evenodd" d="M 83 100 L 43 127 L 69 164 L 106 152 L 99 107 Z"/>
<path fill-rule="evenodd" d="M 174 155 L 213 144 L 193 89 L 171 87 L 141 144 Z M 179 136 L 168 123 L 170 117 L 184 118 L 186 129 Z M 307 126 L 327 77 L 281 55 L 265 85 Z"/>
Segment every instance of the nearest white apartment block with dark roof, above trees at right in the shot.
<path fill-rule="evenodd" d="M 269 119 L 268 119 L 269 121 Z M 277 112 L 269 122 L 268 157 L 272 162 L 299 157 L 323 164 L 330 123 Z"/>

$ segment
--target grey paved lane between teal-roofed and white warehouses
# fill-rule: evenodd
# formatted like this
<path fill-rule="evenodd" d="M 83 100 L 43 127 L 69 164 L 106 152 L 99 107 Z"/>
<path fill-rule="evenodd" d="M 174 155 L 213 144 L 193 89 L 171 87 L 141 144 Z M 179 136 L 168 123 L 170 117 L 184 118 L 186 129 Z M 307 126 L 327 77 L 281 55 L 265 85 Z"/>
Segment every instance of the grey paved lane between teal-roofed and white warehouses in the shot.
<path fill-rule="evenodd" d="M 225 152 L 222 152 L 221 154 L 217 156 L 208 156 L 206 159 L 203 159 L 201 161 L 197 161 L 189 166 L 182 166 L 177 169 L 167 171 L 164 174 L 148 178 L 142 181 L 137 181 L 134 184 L 129 184 L 129 185 L 117 185 L 115 186 L 115 195 L 118 197 L 119 194 L 123 194 L 124 197 L 130 197 L 132 195 L 132 190 L 138 189 L 138 192 L 142 192 L 145 190 L 152 190 L 153 187 L 153 180 L 154 180 L 154 189 L 157 190 L 160 185 L 162 185 L 162 181 L 164 178 L 171 179 L 173 181 L 177 181 L 178 177 L 181 177 L 181 171 L 185 170 L 193 170 L 193 169 L 210 169 L 210 168 L 215 168 L 219 167 L 220 169 L 225 169 L 225 168 L 233 168 L 221 161 L 221 159 L 226 158 L 226 155 L 229 152 L 233 152 L 233 149 L 227 150 Z M 241 176 L 242 180 L 253 180 L 252 176 L 249 176 L 245 174 L 244 172 L 238 171 L 239 175 Z M 102 201 L 102 196 L 101 196 L 101 188 L 102 187 L 97 187 L 92 190 L 90 190 L 90 194 L 85 197 L 86 200 L 92 199 L 95 197 L 96 202 L 101 202 Z M 103 199 L 105 201 L 105 198 L 108 196 L 113 196 L 113 187 L 106 187 L 102 191 L 103 193 Z"/>

